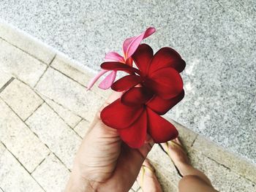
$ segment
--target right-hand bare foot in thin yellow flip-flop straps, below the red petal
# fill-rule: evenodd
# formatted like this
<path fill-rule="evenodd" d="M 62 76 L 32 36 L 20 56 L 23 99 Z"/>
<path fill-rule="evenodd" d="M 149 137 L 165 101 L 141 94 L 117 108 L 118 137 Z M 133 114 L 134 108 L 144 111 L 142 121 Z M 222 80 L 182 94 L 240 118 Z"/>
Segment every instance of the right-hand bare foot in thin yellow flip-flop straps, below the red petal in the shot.
<path fill-rule="evenodd" d="M 173 160 L 173 163 L 177 166 L 181 175 L 184 175 L 187 172 L 186 169 L 187 166 L 190 166 L 190 163 L 181 141 L 176 138 L 170 142 L 162 143 L 161 145 Z"/>

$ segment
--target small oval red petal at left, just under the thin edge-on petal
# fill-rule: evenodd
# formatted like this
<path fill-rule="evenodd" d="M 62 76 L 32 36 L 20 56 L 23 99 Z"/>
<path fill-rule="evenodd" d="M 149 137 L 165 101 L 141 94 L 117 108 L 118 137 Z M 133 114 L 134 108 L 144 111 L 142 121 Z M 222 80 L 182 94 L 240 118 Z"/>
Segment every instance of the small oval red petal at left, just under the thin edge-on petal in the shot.
<path fill-rule="evenodd" d="M 114 82 L 111 88 L 113 91 L 126 91 L 129 88 L 138 85 L 141 81 L 142 79 L 140 76 L 136 74 L 129 74 Z"/>

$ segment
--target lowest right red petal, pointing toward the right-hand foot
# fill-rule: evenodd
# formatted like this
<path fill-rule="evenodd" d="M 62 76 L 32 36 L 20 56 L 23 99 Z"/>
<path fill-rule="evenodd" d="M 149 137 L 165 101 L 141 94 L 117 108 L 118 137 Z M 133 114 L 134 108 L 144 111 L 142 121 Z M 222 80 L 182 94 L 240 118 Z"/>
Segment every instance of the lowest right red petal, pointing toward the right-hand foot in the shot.
<path fill-rule="evenodd" d="M 167 142 L 178 137 L 178 131 L 172 123 L 157 115 L 157 113 L 149 108 L 147 108 L 147 113 L 148 133 L 154 139 L 154 142 Z"/>

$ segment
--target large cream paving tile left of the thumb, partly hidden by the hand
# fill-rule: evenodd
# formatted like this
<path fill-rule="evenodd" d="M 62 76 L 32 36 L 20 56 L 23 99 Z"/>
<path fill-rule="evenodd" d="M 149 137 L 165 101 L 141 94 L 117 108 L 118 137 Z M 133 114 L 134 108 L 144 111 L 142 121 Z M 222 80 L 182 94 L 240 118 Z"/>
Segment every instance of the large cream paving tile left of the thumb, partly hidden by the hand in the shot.
<path fill-rule="evenodd" d="M 81 139 L 47 104 L 26 120 L 29 127 L 55 153 L 68 169 L 72 168 Z"/>

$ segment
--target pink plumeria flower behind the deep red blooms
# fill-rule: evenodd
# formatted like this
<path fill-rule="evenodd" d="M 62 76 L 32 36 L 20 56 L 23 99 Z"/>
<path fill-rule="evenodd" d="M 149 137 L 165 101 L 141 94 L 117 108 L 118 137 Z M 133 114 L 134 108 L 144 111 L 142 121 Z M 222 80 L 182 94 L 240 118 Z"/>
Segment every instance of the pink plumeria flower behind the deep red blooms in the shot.
<path fill-rule="evenodd" d="M 117 61 L 121 64 L 127 64 L 129 66 L 132 66 L 132 58 L 131 55 L 135 53 L 135 50 L 137 50 L 138 46 L 140 45 L 140 42 L 142 42 L 143 39 L 146 39 L 148 36 L 151 36 L 151 34 L 154 34 L 156 29 L 154 27 L 149 27 L 144 31 L 142 34 L 140 34 L 137 37 L 130 37 L 128 39 L 124 40 L 123 44 L 123 52 L 124 57 L 119 55 L 116 52 L 110 52 L 107 55 L 105 55 L 105 61 Z M 108 70 L 102 69 L 95 77 L 89 82 L 89 85 L 87 86 L 87 90 L 89 90 L 97 80 L 99 80 L 99 77 L 101 77 L 103 74 L 108 72 Z M 105 77 L 102 82 L 99 83 L 99 88 L 102 89 L 108 89 L 111 87 L 113 82 L 116 79 L 116 71 L 113 70 L 108 74 L 107 77 Z"/>

